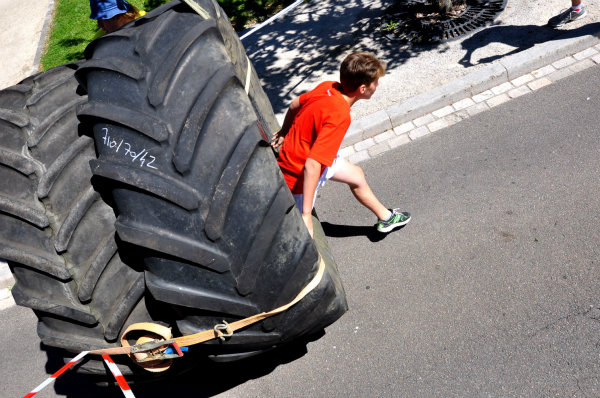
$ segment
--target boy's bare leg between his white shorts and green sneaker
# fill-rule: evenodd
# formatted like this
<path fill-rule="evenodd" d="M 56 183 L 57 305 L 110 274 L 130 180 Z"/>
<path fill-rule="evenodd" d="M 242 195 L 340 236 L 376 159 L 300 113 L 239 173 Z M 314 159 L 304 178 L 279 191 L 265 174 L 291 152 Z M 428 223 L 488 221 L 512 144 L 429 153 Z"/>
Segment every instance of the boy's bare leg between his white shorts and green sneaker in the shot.
<path fill-rule="evenodd" d="M 385 207 L 375 196 L 371 187 L 365 179 L 362 169 L 348 161 L 344 161 L 331 177 L 331 181 L 348 184 L 354 197 L 367 209 L 371 210 L 380 220 L 386 220 L 391 215 L 390 210 Z"/>

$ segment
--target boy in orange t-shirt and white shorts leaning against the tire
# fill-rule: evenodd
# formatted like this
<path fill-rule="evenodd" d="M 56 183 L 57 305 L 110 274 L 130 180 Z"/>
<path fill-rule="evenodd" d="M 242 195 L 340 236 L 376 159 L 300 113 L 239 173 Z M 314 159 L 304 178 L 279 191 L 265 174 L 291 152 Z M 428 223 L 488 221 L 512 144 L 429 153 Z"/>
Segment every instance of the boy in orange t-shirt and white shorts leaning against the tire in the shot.
<path fill-rule="evenodd" d="M 338 156 L 350 126 L 350 107 L 369 99 L 385 74 L 385 64 L 368 52 L 354 52 L 340 66 L 340 82 L 324 82 L 295 98 L 272 146 L 283 177 L 313 235 L 312 209 L 325 181 L 348 184 L 354 197 L 378 218 L 377 230 L 390 232 L 410 221 L 410 214 L 386 208 L 367 184 L 364 172 Z"/>

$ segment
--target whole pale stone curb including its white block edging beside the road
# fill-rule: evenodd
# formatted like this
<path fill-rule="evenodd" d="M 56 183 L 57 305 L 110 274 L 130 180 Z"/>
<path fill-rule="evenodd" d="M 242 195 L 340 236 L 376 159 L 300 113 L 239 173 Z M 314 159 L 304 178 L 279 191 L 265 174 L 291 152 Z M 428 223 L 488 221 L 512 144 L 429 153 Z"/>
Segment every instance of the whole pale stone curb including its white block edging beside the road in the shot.
<path fill-rule="evenodd" d="M 590 29 L 505 57 L 463 78 L 353 122 L 341 155 L 359 163 L 600 64 Z"/>

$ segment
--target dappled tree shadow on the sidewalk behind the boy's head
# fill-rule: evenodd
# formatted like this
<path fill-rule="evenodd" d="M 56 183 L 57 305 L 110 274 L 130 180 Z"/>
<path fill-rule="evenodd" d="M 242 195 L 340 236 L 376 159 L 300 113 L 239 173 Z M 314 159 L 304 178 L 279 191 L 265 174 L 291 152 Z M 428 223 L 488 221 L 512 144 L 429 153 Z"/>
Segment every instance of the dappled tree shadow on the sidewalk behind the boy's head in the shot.
<path fill-rule="evenodd" d="M 404 46 L 383 37 L 381 17 L 395 0 L 331 0 L 306 3 L 290 15 L 265 26 L 242 43 L 261 78 L 274 112 L 323 77 L 338 79 L 343 57 L 367 50 L 385 59 L 390 68 L 403 64 L 430 46 Z"/>

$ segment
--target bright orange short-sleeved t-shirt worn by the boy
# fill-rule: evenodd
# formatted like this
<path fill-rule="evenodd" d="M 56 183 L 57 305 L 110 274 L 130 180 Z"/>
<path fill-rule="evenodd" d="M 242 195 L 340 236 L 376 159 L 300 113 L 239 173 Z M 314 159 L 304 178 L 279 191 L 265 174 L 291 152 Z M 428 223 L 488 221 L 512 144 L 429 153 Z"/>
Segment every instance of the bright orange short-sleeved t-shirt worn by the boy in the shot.
<path fill-rule="evenodd" d="M 350 127 L 350 104 L 340 89 L 337 82 L 323 82 L 299 97 L 300 110 L 277 159 L 294 194 L 302 193 L 306 159 L 310 157 L 321 163 L 322 173 L 333 163 Z"/>

